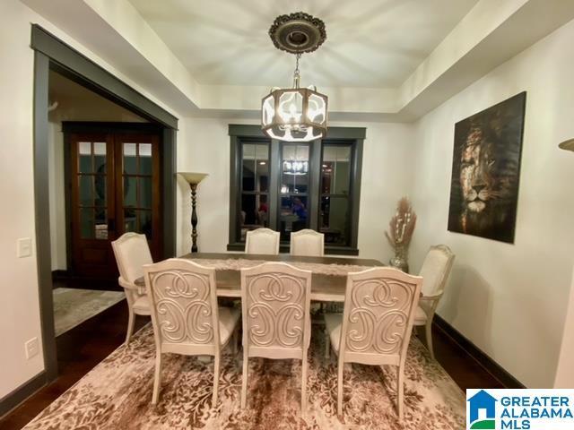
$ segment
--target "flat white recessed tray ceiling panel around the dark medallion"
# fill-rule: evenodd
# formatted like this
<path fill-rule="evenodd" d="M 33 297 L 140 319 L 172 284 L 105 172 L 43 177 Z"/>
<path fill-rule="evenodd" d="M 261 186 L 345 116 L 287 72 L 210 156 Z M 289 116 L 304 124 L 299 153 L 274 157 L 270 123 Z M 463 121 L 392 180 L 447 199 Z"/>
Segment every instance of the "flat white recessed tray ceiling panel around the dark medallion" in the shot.
<path fill-rule="evenodd" d="M 327 39 L 301 62 L 302 84 L 389 88 L 429 56 L 477 0 L 130 0 L 201 84 L 288 84 L 294 57 L 267 34 L 277 15 L 303 11 Z"/>

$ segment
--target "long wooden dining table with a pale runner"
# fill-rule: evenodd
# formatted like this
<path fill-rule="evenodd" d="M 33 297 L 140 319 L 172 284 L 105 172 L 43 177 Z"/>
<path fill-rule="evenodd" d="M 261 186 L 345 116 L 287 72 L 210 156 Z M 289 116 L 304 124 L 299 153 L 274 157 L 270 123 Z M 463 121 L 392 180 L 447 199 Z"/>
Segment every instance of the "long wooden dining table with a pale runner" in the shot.
<path fill-rule="evenodd" d="M 286 262 L 300 269 L 312 271 L 311 300 L 344 302 L 347 273 L 384 266 L 373 259 L 355 257 L 309 257 L 291 254 L 193 253 L 184 258 L 215 269 L 217 297 L 241 297 L 241 268 L 263 262 Z M 143 277 L 135 285 L 145 291 Z"/>

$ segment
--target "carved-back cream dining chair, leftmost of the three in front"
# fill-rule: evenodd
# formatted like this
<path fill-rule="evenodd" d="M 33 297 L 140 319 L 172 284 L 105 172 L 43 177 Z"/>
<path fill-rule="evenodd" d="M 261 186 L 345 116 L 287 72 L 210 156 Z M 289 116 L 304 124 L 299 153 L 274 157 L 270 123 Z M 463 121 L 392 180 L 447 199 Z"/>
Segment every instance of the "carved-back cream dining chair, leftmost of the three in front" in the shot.
<path fill-rule="evenodd" d="M 213 268 L 170 258 L 146 265 L 143 271 L 152 305 L 155 340 L 152 404 L 157 404 L 160 396 L 161 355 L 173 353 L 213 356 L 214 408 L 218 397 L 221 351 L 231 337 L 237 340 L 239 310 L 218 307 Z"/>

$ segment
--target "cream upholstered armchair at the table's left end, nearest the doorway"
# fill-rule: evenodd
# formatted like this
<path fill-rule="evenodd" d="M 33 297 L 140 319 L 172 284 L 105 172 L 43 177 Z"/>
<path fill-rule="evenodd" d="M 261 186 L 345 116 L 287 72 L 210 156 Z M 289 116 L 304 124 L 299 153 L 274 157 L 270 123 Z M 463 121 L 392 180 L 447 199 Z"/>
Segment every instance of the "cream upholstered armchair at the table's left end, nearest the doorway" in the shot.
<path fill-rule="evenodd" d="M 143 265 L 151 264 L 152 254 L 145 235 L 125 233 L 111 243 L 116 257 L 119 278 L 117 283 L 124 288 L 127 299 L 126 343 L 134 333 L 135 315 L 150 315 L 150 301 L 145 292 L 135 285 L 135 280 L 143 276 Z"/>

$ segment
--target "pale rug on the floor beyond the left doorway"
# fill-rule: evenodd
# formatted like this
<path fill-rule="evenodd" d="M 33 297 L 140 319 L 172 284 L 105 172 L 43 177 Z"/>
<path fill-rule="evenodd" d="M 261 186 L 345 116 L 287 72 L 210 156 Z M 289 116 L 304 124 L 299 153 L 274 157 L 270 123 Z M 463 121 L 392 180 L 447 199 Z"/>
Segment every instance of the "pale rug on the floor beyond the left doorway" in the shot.
<path fill-rule="evenodd" d="M 123 291 L 99 291 L 95 289 L 55 288 L 54 326 L 56 336 L 73 329 L 92 316 L 116 305 L 126 298 Z"/>

